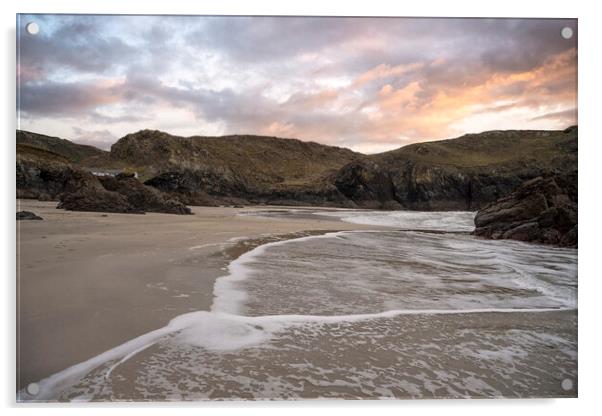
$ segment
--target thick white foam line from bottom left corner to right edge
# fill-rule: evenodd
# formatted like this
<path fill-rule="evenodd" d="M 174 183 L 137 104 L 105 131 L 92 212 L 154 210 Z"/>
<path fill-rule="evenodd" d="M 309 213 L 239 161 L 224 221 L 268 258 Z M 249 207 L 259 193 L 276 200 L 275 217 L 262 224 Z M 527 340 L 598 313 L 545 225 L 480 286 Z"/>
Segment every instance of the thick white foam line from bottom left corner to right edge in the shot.
<path fill-rule="evenodd" d="M 111 372 L 135 354 L 151 347 L 162 338 L 176 335 L 176 341 L 202 347 L 209 351 L 231 351 L 259 345 L 270 340 L 274 334 L 300 324 L 350 323 L 372 319 L 394 318 L 401 315 L 462 315 L 482 313 L 543 313 L 571 310 L 570 308 L 540 309 L 467 309 L 467 310 L 392 310 L 374 314 L 311 316 L 311 315 L 268 315 L 248 317 L 221 312 L 191 312 L 180 315 L 163 328 L 149 332 L 125 342 L 89 360 L 68 367 L 36 384 L 35 395 L 23 389 L 17 393 L 17 401 L 47 401 L 55 399 L 61 391 L 77 383 L 95 368 L 119 360 L 109 368 Z"/>

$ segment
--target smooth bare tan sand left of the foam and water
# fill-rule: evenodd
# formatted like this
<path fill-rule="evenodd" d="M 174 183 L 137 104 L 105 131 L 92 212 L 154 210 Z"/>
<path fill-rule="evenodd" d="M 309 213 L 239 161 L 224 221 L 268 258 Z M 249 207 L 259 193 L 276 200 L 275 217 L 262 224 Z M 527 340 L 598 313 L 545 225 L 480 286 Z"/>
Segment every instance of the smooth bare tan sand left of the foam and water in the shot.
<path fill-rule="evenodd" d="M 43 221 L 17 223 L 17 388 L 209 310 L 231 239 L 302 231 L 375 229 L 311 215 L 240 212 L 282 207 L 192 207 L 195 215 L 70 212 L 17 201 Z"/>

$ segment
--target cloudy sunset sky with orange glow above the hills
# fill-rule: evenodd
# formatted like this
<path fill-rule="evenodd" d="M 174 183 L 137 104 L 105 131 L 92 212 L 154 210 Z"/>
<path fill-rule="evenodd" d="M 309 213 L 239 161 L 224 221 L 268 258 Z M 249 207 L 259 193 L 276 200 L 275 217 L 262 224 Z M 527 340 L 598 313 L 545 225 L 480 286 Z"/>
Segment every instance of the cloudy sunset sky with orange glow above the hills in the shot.
<path fill-rule="evenodd" d="M 577 124 L 577 23 L 20 15 L 17 78 L 20 129 L 103 149 L 157 129 L 377 153 Z"/>

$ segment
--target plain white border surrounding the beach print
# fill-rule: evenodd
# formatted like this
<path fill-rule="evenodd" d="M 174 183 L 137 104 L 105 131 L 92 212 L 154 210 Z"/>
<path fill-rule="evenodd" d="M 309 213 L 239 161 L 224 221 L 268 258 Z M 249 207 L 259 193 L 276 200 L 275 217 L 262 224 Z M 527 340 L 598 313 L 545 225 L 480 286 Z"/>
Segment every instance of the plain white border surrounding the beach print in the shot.
<path fill-rule="evenodd" d="M 166 405 L 154 404 L 147 406 L 105 405 L 85 406 L 92 414 L 103 412 L 106 407 L 118 407 L 120 410 L 144 414 L 163 414 L 175 411 L 174 407 L 190 414 L 207 411 L 230 411 L 235 408 L 250 414 L 267 412 L 286 412 L 305 414 L 308 411 L 326 414 L 334 408 L 343 407 L 345 412 L 364 415 L 374 410 L 383 413 L 399 414 L 400 412 L 426 412 L 427 414 L 478 414 L 487 412 L 489 415 L 504 415 L 508 413 L 528 411 L 543 413 L 546 416 L 577 414 L 588 411 L 596 406 L 599 395 L 600 358 L 598 347 L 601 345 L 598 333 L 599 303 L 602 293 L 599 272 L 600 257 L 596 241 L 600 238 L 601 210 L 600 177 L 597 166 L 602 160 L 600 143 L 600 65 L 599 39 L 602 39 L 600 14 L 596 13 L 593 1 L 545 1 L 528 2 L 525 0 L 504 0 L 498 2 L 486 1 L 434 1 L 420 0 L 412 2 L 394 2 L 392 0 L 363 0 L 363 1 L 328 1 L 304 0 L 297 2 L 277 0 L 249 1 L 205 1 L 191 0 L 104 0 L 98 2 L 61 0 L 4 0 L 0 2 L 2 13 L 2 83 L 4 92 L 0 100 L 0 114 L 3 118 L 4 137 L 2 163 L 2 204 L 3 220 L 3 250 L 2 265 L 4 273 L 2 291 L 4 319 L 2 329 L 5 334 L 2 343 L 2 404 L 15 411 L 15 169 L 14 169 L 14 137 L 15 137 L 15 14 L 21 13 L 118 13 L 118 14 L 253 14 L 253 15 L 347 15 L 347 16 L 455 16 L 455 17 L 576 17 L 579 18 L 579 176 L 580 176 L 580 248 L 579 248 L 579 399 L 565 400 L 479 400 L 479 401 L 404 401 L 404 402 L 295 402 L 295 403 L 202 403 Z M 124 409 L 123 407 L 128 407 Z M 18 406 L 29 413 L 39 406 Z M 165 407 L 169 407 L 166 409 Z M 199 409 L 198 407 L 203 407 Z M 282 407 L 285 407 L 283 409 Z M 318 407 L 318 408 L 315 408 Z M 311 408 L 311 409 L 310 409 Z M 43 411 L 51 414 L 79 413 L 82 406 L 70 405 L 47 406 Z M 20 409 L 23 411 L 23 409 Z"/>

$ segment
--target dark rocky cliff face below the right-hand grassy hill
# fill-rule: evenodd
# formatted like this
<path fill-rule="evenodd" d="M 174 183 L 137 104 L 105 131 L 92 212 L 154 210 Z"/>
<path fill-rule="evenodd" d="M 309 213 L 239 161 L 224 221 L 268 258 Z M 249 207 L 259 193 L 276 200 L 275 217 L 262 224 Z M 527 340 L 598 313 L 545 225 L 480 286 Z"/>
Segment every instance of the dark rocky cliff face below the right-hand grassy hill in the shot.
<path fill-rule="evenodd" d="M 545 173 L 550 172 L 537 168 L 479 172 L 407 160 L 383 166 L 365 160 L 344 166 L 333 183 L 361 208 L 474 211 Z"/>

